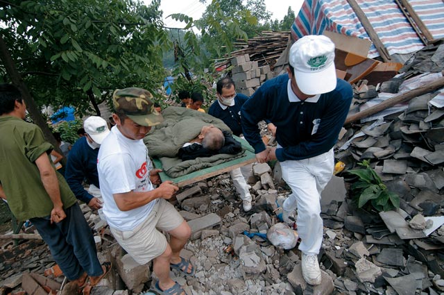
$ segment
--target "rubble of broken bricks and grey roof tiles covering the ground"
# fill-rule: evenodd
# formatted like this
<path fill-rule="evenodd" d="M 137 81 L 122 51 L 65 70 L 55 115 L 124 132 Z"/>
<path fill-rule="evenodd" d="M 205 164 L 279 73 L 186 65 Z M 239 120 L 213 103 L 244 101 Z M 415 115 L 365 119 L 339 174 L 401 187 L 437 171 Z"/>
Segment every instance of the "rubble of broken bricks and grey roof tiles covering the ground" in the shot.
<path fill-rule="evenodd" d="M 442 51 L 442 45 L 436 47 L 438 56 Z M 436 64 L 442 61 L 438 58 Z M 355 85 L 357 106 L 442 76 L 442 66 L 436 73 L 418 76 L 420 62 L 413 60 L 410 65 L 415 66 L 406 68 L 404 76 L 379 87 Z M 251 186 L 250 212 L 241 209 L 228 174 L 180 190 L 171 202 L 192 231 L 181 255 L 191 260 L 196 272 L 185 277 L 172 270 L 173 279 L 192 295 L 443 294 L 442 96 L 427 93 L 384 110 L 383 115 L 376 115 L 377 120 L 367 118 L 346 126 L 335 153 L 345 170 L 338 174 L 341 177 L 332 178 L 321 199 L 325 229 L 318 255 L 321 285 L 314 287 L 303 280 L 297 246 L 285 249 L 271 241 L 271 230 L 282 222 L 282 202 L 290 194 L 279 162 L 241 169 Z M 261 127 L 266 130 L 264 124 Z M 347 170 L 363 160 L 370 160 L 384 185 L 400 196 L 399 210 L 357 208 L 355 196 L 347 190 L 356 176 Z M 94 230 L 99 260 L 110 260 L 113 265 L 110 276 L 91 294 L 148 294 L 155 283 L 151 263 L 137 264 L 115 242 L 105 221 L 86 205 L 82 208 Z M 296 222 L 285 227 L 297 237 Z M 32 227 L 26 233 L 33 233 Z M 56 294 L 65 284 L 42 240 L 25 238 L 18 245 L 12 239 L 2 240 L 0 294 Z"/>

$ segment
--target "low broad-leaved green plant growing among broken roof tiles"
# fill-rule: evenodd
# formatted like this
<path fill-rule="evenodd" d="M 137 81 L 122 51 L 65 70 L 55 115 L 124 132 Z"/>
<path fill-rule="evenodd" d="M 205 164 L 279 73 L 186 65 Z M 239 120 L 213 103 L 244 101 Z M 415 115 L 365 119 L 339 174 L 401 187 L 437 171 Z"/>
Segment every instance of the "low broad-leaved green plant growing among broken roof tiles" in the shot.
<path fill-rule="evenodd" d="M 363 208 L 371 205 L 377 212 L 399 208 L 400 197 L 398 194 L 388 191 L 381 178 L 370 167 L 370 162 L 364 160 L 358 164 L 365 169 L 348 171 L 348 173 L 359 177 L 359 180 L 351 187 L 352 198 L 357 201 L 358 207 Z M 370 203 L 368 203 L 369 201 Z"/>

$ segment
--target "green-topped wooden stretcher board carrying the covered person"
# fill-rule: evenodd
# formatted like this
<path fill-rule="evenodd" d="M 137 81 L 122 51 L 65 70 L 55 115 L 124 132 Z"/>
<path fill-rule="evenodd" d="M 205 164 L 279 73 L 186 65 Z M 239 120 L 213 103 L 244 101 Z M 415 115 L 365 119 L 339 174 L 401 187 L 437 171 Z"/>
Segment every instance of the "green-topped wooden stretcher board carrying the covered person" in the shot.
<path fill-rule="evenodd" d="M 185 176 L 180 176 L 177 178 L 171 178 L 163 171 L 159 173 L 160 179 L 162 182 L 171 180 L 178 187 L 184 187 L 185 185 L 191 185 L 192 183 L 197 183 L 200 180 L 204 180 L 213 176 L 218 176 L 219 174 L 223 174 L 225 172 L 231 171 L 233 169 L 251 164 L 256 161 L 255 151 L 250 144 L 243 138 L 234 136 L 234 138 L 241 142 L 242 147 L 245 149 L 244 155 L 241 158 L 235 158 L 234 160 L 230 160 L 228 162 L 224 162 L 222 164 L 208 167 L 204 169 L 200 169 L 198 171 L 191 172 Z M 159 158 L 153 158 L 153 165 L 157 169 L 162 169 L 162 162 Z"/>

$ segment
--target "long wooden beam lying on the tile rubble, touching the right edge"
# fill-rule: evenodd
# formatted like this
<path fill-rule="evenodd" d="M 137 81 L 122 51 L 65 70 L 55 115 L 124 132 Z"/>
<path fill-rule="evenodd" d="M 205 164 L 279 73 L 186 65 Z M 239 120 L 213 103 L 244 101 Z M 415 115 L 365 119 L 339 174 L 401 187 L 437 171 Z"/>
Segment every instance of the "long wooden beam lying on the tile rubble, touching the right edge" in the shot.
<path fill-rule="evenodd" d="M 376 114 L 377 112 L 385 110 L 386 108 L 390 108 L 391 106 L 395 106 L 398 103 L 404 103 L 406 101 L 409 101 L 409 100 L 415 98 L 416 96 L 420 96 L 422 94 L 432 92 L 432 91 L 437 90 L 441 87 L 444 87 L 444 77 L 438 78 L 437 80 L 435 80 L 433 82 L 427 83 L 426 85 L 422 85 L 418 88 L 410 90 L 409 92 L 406 92 L 406 93 L 403 93 L 403 94 L 400 94 L 397 96 L 393 96 L 391 99 L 387 99 L 386 101 L 383 101 L 382 103 L 379 103 L 376 106 L 373 106 L 371 108 L 363 110 L 362 112 L 358 112 L 357 114 L 350 115 L 347 117 L 347 119 L 345 119 L 344 124 L 348 124 L 353 121 L 357 121 L 359 119 Z"/>

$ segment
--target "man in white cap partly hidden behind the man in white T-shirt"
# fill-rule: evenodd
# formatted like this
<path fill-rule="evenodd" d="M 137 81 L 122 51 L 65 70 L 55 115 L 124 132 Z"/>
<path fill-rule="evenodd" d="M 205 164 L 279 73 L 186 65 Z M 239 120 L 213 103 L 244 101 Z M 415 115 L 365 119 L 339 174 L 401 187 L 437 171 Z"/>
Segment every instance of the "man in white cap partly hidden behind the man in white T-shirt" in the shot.
<path fill-rule="evenodd" d="M 102 208 L 97 155 L 99 147 L 110 133 L 108 124 L 101 117 L 92 116 L 83 122 L 85 136 L 80 137 L 69 152 L 65 178 L 76 198 L 85 202 L 92 210 Z M 83 180 L 89 183 L 88 191 Z"/>

